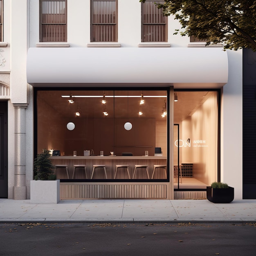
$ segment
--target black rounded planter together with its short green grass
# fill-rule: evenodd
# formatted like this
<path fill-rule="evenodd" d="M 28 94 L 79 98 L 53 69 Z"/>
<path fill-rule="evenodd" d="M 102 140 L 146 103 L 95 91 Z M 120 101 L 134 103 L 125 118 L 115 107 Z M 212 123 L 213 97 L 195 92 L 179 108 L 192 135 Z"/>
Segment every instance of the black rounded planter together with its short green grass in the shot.
<path fill-rule="evenodd" d="M 234 188 L 227 183 L 213 182 L 206 188 L 207 199 L 213 203 L 230 203 L 234 200 Z"/>

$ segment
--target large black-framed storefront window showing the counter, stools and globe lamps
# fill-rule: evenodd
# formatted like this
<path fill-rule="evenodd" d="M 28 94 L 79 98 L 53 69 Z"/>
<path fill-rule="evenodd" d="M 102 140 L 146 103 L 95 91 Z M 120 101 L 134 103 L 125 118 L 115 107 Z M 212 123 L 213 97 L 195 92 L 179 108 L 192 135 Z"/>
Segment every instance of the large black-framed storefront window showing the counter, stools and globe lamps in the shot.
<path fill-rule="evenodd" d="M 56 169 L 58 179 L 169 179 L 168 90 L 35 88 L 35 95 L 35 154 L 52 150 L 53 164 L 67 165 L 69 178 Z"/>

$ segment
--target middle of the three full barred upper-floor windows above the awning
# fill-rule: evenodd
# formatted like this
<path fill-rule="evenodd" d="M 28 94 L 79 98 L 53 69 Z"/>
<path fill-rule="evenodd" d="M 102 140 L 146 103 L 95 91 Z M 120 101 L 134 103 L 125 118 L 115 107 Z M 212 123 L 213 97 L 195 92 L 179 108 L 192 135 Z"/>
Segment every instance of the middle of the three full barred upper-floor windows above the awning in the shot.
<path fill-rule="evenodd" d="M 117 42 L 116 0 L 91 0 L 91 42 Z"/>

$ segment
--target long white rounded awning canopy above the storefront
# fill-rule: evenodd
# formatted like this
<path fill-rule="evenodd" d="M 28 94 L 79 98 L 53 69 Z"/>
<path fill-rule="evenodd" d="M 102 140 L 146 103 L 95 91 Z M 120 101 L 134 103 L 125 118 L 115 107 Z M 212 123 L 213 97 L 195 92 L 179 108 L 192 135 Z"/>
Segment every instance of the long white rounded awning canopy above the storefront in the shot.
<path fill-rule="evenodd" d="M 219 47 L 35 47 L 27 82 L 36 87 L 220 88 L 228 79 Z"/>

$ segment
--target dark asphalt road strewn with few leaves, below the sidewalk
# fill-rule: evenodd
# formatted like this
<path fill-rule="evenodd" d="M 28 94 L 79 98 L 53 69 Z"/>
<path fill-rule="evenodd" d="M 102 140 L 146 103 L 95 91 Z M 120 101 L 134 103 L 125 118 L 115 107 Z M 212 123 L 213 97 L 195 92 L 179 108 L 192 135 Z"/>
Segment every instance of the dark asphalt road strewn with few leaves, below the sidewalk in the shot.
<path fill-rule="evenodd" d="M 256 224 L 2 224 L 0 255 L 256 255 Z"/>

